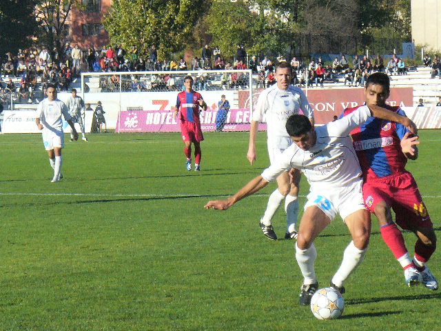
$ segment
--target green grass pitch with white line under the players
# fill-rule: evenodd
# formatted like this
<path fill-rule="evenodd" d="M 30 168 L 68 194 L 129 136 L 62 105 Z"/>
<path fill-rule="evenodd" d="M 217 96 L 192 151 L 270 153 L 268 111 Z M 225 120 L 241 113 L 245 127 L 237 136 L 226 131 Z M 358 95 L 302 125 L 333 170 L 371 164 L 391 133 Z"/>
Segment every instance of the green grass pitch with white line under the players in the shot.
<path fill-rule="evenodd" d="M 39 134 L 0 135 L 0 330 L 437 330 L 440 291 L 404 285 L 375 218 L 342 318 L 318 321 L 298 305 L 293 241 L 258 227 L 274 184 L 225 212 L 203 209 L 260 174 L 265 137 L 251 166 L 247 132 L 207 133 L 203 171 L 187 172 L 180 134 L 91 134 L 66 141 L 65 178 L 50 183 Z M 440 132 L 420 137 L 408 168 L 441 237 Z M 307 190 L 303 178 L 301 203 Z M 283 237 L 283 210 L 274 225 Z M 320 285 L 349 241 L 341 219 L 316 240 Z M 440 262 L 435 252 L 438 279 Z"/>

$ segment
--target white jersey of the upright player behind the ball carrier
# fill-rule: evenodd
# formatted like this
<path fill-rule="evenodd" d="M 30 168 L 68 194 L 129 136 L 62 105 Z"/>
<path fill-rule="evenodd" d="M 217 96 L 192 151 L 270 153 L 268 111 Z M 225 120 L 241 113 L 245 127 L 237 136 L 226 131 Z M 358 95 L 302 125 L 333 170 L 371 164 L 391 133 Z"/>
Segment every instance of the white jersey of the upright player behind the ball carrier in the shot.
<path fill-rule="evenodd" d="M 289 138 L 285 124 L 288 117 L 298 114 L 300 109 L 309 119 L 314 119 L 314 111 L 301 88 L 290 85 L 280 90 L 277 84 L 260 92 L 252 120 L 267 121 L 268 146 L 278 147 L 280 137 Z"/>

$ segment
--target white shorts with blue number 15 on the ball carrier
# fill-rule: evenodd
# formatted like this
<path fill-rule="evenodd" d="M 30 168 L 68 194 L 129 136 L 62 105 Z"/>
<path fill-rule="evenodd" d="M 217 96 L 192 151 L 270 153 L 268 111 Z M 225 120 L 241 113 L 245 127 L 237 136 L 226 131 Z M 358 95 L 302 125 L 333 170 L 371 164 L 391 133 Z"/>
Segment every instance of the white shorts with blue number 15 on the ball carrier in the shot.
<path fill-rule="evenodd" d="M 307 195 L 305 210 L 311 205 L 316 205 L 331 221 L 336 218 L 337 213 L 344 221 L 353 212 L 366 209 L 361 189 L 362 179 L 345 187 L 311 191 Z"/>

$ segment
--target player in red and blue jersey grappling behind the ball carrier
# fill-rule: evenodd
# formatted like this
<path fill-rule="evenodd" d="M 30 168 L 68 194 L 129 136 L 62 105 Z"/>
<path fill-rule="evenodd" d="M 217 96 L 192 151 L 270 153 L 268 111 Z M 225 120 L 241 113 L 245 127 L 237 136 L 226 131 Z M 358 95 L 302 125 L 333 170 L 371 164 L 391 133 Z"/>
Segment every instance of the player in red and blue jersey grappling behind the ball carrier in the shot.
<path fill-rule="evenodd" d="M 387 106 L 389 77 L 382 72 L 372 74 L 365 87 L 367 106 L 376 105 L 406 116 L 399 107 Z M 347 108 L 342 115 L 358 109 Z M 384 242 L 404 269 L 409 286 L 423 283 L 430 290 L 438 289 L 438 281 L 426 266 L 435 251 L 433 223 L 422 201 L 418 185 L 405 169 L 407 159 L 418 157 L 418 137 L 400 123 L 371 117 L 351 132 L 364 177 L 363 199 L 376 214 Z M 396 214 L 393 222 L 391 210 Z M 415 255 L 409 257 L 404 238 L 397 225 L 417 236 Z"/>

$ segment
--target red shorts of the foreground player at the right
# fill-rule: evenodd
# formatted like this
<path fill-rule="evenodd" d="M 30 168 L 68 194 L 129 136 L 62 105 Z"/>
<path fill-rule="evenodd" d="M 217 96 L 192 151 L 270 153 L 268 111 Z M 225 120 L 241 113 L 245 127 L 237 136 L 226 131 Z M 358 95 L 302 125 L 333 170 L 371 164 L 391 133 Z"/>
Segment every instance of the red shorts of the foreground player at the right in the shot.
<path fill-rule="evenodd" d="M 370 212 L 384 201 L 395 212 L 395 221 L 403 230 L 433 227 L 420 190 L 410 172 L 367 181 L 363 184 L 363 199 Z"/>

